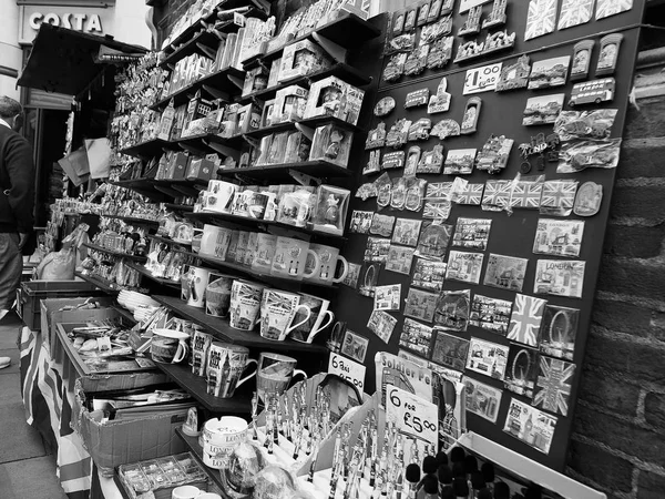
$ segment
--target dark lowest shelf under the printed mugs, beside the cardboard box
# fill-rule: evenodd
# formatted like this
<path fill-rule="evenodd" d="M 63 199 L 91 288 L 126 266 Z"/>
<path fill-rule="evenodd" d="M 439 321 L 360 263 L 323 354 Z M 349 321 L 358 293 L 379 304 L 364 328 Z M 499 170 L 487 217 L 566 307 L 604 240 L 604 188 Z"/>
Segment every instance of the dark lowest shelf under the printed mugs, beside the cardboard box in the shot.
<path fill-rule="evenodd" d="M 232 398 L 208 395 L 206 379 L 192 374 L 192 367 L 187 364 L 155 363 L 155 365 L 212 413 L 249 414 L 252 410 L 252 399 L 247 395 L 235 394 Z"/>

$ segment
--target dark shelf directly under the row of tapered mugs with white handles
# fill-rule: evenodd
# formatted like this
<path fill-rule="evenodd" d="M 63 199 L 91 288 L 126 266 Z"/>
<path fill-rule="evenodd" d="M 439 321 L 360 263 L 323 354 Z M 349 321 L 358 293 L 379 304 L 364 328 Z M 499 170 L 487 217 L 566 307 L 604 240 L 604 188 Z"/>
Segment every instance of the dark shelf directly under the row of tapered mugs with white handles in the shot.
<path fill-rule="evenodd" d="M 229 326 L 228 320 L 219 317 L 212 317 L 207 315 L 203 308 L 191 307 L 176 297 L 172 296 L 152 296 L 153 299 L 160 302 L 162 305 L 167 306 L 174 310 L 177 315 L 193 320 L 196 324 L 202 325 L 206 330 L 211 332 L 218 339 L 233 343 L 236 345 L 243 345 L 248 348 L 257 348 L 260 350 L 277 350 L 277 352 L 303 352 L 313 355 L 325 355 L 328 349 L 324 345 L 306 344 L 294 342 L 293 339 L 286 339 L 284 342 L 273 342 L 262 337 L 257 330 L 245 332 L 234 329 Z"/>

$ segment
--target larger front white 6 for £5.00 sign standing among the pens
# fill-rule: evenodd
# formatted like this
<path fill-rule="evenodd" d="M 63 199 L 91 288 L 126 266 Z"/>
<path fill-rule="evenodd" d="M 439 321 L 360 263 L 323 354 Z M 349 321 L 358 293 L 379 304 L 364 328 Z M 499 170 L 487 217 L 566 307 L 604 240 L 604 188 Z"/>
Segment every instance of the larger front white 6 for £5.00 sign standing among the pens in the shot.
<path fill-rule="evenodd" d="M 436 404 L 393 385 L 386 387 L 386 419 L 406 435 L 428 442 L 439 438 L 439 409 Z"/>

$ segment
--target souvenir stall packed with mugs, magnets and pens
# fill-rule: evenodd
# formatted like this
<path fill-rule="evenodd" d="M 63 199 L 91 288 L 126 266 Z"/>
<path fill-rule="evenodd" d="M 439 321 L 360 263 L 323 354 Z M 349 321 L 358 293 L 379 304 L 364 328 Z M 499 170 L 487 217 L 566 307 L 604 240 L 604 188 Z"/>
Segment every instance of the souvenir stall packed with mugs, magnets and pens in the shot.
<path fill-rule="evenodd" d="M 41 304 L 68 492 L 605 497 L 562 473 L 645 2 L 370 8 L 198 1 L 117 69 L 61 202 L 106 296 Z"/>

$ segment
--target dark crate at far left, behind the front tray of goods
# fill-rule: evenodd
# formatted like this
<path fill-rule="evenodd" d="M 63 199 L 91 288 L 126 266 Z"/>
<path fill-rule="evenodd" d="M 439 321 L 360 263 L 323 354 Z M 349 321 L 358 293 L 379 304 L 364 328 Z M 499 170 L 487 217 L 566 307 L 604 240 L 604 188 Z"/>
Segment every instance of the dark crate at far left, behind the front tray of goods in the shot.
<path fill-rule="evenodd" d="M 39 329 L 42 299 L 104 295 L 103 291 L 85 281 L 29 281 L 21 283 L 17 289 L 17 313 L 25 326 Z"/>

